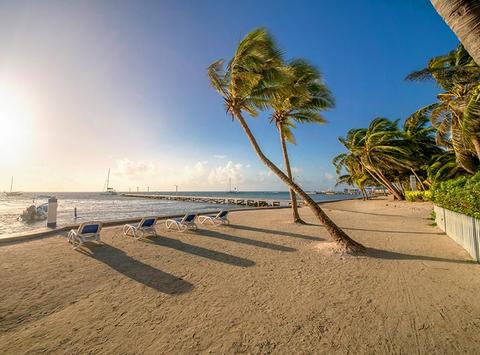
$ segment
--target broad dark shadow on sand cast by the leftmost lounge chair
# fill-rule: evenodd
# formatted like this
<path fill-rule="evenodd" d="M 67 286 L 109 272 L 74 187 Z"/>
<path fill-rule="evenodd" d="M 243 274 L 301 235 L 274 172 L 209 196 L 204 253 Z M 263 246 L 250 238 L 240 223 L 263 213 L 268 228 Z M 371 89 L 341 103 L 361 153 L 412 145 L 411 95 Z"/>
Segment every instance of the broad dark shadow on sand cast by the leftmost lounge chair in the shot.
<path fill-rule="evenodd" d="M 135 260 L 123 250 L 109 244 L 96 245 L 91 248 L 87 246 L 87 248 L 77 251 L 101 261 L 113 270 L 158 292 L 176 295 L 193 289 L 193 284 L 190 282 Z"/>

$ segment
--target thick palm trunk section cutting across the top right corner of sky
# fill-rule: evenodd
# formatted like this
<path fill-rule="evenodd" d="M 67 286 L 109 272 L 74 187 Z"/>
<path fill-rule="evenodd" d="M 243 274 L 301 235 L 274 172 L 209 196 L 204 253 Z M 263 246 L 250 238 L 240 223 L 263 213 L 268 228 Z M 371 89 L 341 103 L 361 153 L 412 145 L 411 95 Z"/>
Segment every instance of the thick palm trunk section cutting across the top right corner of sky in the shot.
<path fill-rule="evenodd" d="M 478 0 L 430 0 L 457 35 L 460 42 L 480 65 L 480 2 Z"/>

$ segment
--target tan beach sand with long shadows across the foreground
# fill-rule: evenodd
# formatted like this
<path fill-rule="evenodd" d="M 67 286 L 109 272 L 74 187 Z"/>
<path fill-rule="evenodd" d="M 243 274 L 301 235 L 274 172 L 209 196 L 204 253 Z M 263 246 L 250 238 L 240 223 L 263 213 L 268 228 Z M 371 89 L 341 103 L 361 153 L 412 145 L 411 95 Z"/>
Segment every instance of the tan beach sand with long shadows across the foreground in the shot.
<path fill-rule="evenodd" d="M 291 211 L 103 246 L 0 246 L 0 353 L 478 354 L 480 266 L 427 203 L 323 205 L 367 256 L 331 251 Z"/>

